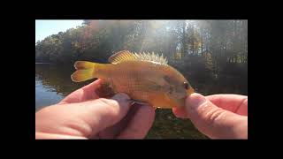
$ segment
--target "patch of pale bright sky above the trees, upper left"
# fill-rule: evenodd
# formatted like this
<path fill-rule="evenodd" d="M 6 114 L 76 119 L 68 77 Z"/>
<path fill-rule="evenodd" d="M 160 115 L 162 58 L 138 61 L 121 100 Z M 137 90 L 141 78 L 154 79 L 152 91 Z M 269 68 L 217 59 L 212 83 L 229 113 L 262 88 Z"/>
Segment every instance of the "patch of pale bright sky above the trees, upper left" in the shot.
<path fill-rule="evenodd" d="M 35 43 L 51 34 L 65 32 L 72 27 L 80 26 L 82 20 L 35 20 Z"/>

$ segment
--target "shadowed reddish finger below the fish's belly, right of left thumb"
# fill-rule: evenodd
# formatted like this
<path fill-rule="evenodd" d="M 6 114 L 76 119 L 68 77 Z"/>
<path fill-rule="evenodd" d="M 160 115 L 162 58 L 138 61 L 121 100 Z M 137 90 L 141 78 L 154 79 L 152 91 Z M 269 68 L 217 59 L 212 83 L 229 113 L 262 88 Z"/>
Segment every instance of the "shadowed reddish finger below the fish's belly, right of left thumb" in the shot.
<path fill-rule="evenodd" d="M 137 107 L 126 128 L 119 133 L 118 139 L 143 139 L 153 125 L 155 109 L 149 105 Z"/>

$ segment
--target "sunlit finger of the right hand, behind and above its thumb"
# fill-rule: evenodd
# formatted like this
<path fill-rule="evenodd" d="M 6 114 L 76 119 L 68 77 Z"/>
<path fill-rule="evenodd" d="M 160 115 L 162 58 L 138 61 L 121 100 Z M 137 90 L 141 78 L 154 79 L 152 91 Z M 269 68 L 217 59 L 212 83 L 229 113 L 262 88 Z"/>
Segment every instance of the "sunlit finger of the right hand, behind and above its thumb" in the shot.
<path fill-rule="evenodd" d="M 242 116 L 248 116 L 248 96 L 245 95 L 209 95 L 210 102 L 224 110 L 232 111 Z"/>

